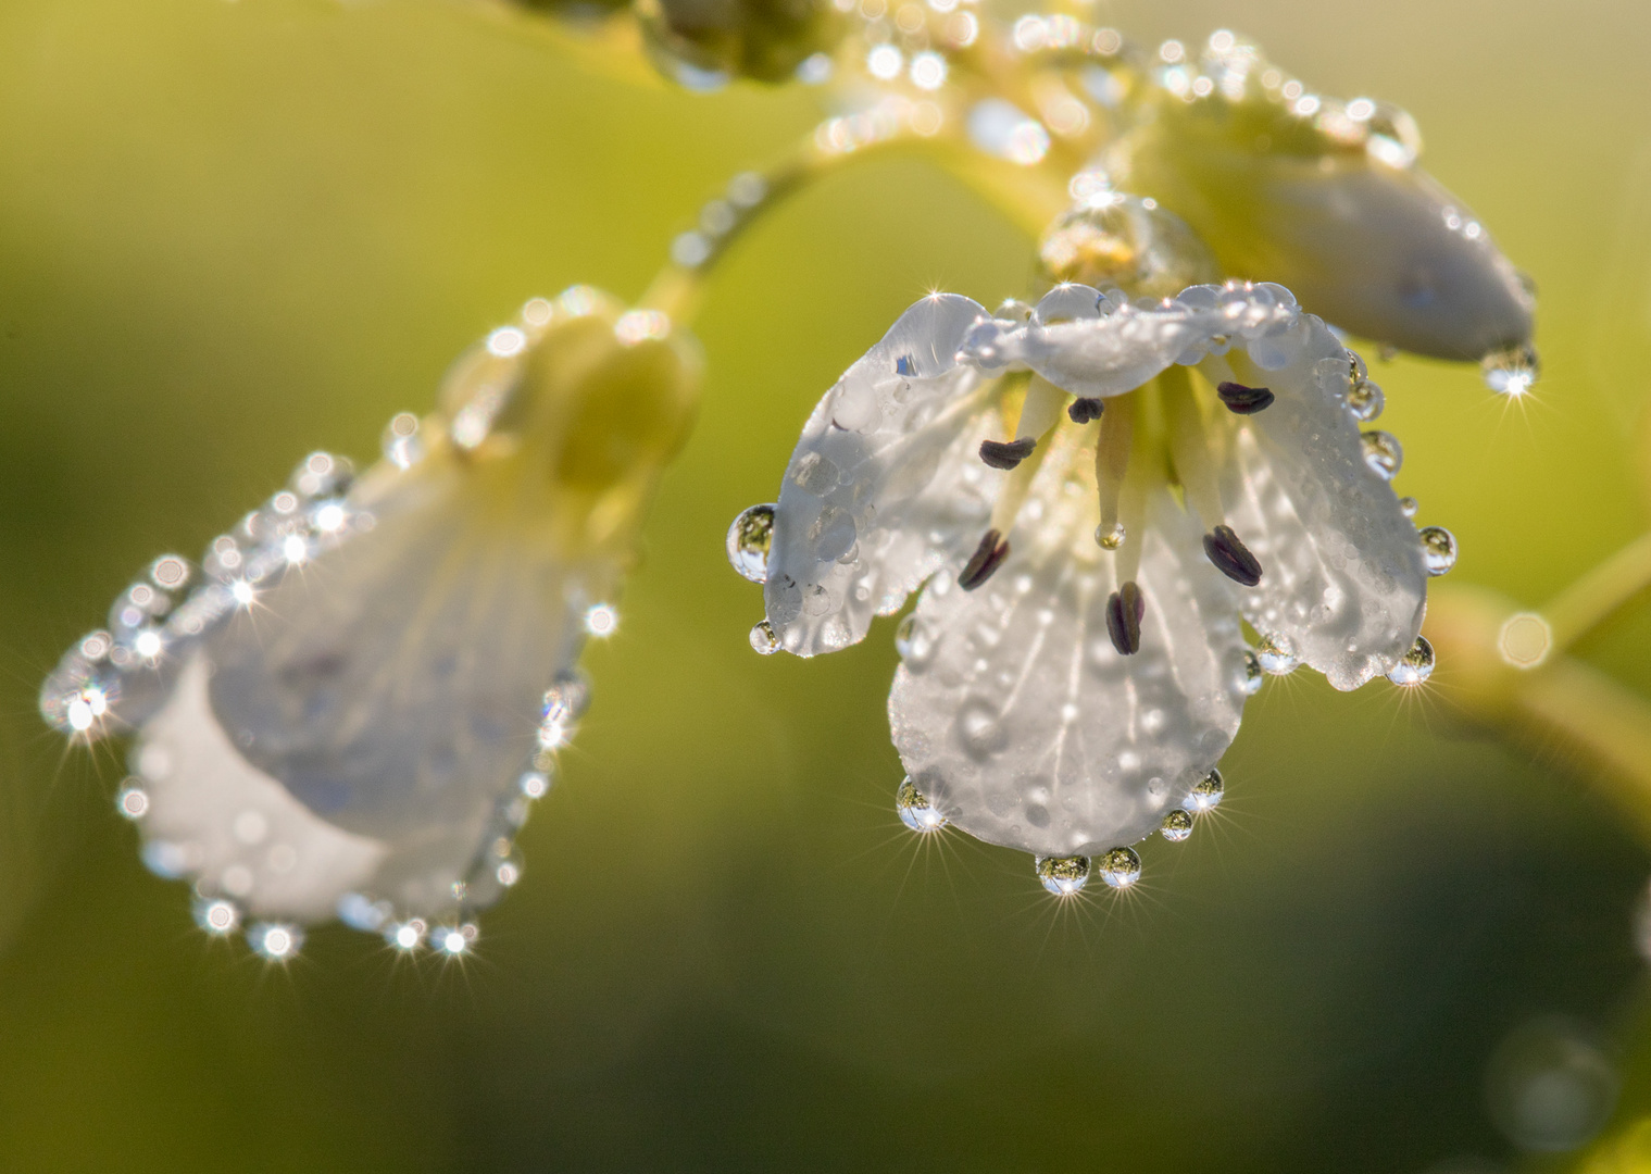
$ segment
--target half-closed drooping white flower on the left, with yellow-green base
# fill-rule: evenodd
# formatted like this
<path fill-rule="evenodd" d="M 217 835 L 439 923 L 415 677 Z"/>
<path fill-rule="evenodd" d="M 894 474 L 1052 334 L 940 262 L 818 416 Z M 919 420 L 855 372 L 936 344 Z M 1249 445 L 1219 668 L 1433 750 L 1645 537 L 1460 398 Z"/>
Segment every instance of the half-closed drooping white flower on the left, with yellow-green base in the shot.
<path fill-rule="evenodd" d="M 312 454 L 200 571 L 158 560 L 46 680 L 64 731 L 135 731 L 119 809 L 211 931 L 263 918 L 286 946 L 249 941 L 284 956 L 297 923 L 342 916 L 409 948 L 515 883 L 588 700 L 581 646 L 613 627 L 692 413 L 659 319 L 584 287 L 528 302 L 441 413 L 391 421 L 385 461 L 352 479 Z"/>

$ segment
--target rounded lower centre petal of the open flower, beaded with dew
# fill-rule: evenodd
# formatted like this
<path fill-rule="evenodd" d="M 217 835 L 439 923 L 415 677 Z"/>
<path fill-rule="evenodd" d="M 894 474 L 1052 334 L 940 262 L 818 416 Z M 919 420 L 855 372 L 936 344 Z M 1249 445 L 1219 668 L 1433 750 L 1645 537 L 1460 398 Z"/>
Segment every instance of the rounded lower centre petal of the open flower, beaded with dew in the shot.
<path fill-rule="evenodd" d="M 992 581 L 961 591 L 948 571 L 925 589 L 888 713 L 916 788 L 963 831 L 1093 855 L 1151 834 L 1227 750 L 1245 642 L 1233 589 L 1161 490 L 1138 578 L 1141 651 L 1118 654 L 1088 451 L 1058 443 Z"/>

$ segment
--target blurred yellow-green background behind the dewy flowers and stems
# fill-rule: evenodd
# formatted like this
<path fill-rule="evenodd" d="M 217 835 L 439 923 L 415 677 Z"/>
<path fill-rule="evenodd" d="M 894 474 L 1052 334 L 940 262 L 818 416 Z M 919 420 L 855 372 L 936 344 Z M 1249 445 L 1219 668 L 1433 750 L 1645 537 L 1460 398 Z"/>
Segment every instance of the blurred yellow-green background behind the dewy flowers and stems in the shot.
<path fill-rule="evenodd" d="M 1237 28 L 1403 104 L 1535 276 L 1522 411 L 1468 368 L 1375 372 L 1455 580 L 1535 606 L 1643 528 L 1651 8 L 1096 18 Z M 715 277 L 698 431 L 475 958 L 334 926 L 271 969 L 142 870 L 117 755 L 35 712 L 63 647 L 304 452 L 371 457 L 523 299 L 637 296 L 816 97 L 627 86 L 438 0 L 5 0 L 0 1167 L 1468 1171 L 1526 1161 L 1488 1065 L 1552 1015 L 1620 1067 L 1621 1120 L 1651 1108 L 1646 847 L 1559 753 L 1455 723 L 1448 665 L 1420 695 L 1271 682 L 1222 819 L 1144 845 L 1128 900 L 1057 907 L 1025 857 L 900 831 L 890 624 L 750 652 L 723 530 L 821 391 L 923 291 L 1027 287 L 1029 241 L 916 162 L 822 183 Z M 1651 692 L 1648 609 L 1583 652 Z"/>

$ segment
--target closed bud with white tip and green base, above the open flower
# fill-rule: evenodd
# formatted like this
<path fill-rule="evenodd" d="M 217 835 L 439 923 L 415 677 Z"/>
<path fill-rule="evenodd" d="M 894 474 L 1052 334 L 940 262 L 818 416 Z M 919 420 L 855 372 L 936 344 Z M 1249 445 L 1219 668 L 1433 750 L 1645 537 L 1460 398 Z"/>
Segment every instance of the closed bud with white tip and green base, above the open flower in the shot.
<path fill-rule="evenodd" d="M 1230 33 L 1157 69 L 1113 183 L 1156 196 L 1227 276 L 1278 281 L 1352 334 L 1436 358 L 1526 343 L 1535 301 L 1489 231 L 1415 167 L 1408 114 L 1309 94 Z"/>

